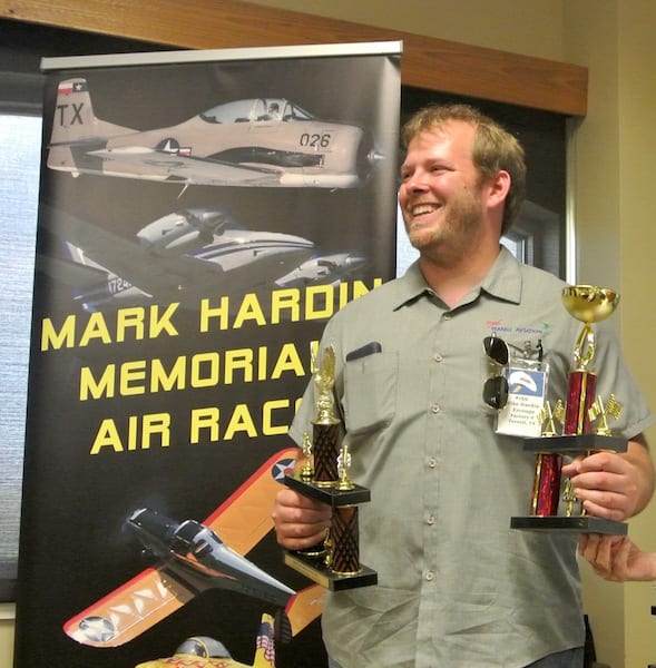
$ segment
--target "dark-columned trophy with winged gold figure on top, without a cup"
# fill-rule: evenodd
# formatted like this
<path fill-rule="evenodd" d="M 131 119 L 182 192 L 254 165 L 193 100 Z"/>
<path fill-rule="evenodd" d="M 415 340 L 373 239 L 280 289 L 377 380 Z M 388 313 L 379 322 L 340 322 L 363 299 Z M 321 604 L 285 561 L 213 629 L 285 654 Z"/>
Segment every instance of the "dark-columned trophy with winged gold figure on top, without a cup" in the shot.
<path fill-rule="evenodd" d="M 326 589 L 339 591 L 378 582 L 378 573 L 360 563 L 358 504 L 371 499 L 366 488 L 349 479 L 351 453 L 342 444 L 342 421 L 335 415 L 333 385 L 335 350 L 324 351 L 321 363 L 312 360 L 312 380 L 316 389 L 316 418 L 312 421 L 312 441 L 303 440 L 303 465 L 285 484 L 333 509 L 331 528 L 323 544 L 295 552 L 285 551 L 284 561 Z"/>

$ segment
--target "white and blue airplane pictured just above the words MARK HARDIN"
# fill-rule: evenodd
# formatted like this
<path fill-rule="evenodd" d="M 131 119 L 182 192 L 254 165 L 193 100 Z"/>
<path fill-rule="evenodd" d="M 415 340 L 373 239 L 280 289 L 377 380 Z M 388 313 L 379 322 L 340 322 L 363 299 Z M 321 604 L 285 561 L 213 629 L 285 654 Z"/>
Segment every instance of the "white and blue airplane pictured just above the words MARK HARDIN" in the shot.
<path fill-rule="evenodd" d="M 67 257 L 40 258 L 39 268 L 68 283 L 87 311 L 151 298 L 193 307 L 217 293 L 271 291 L 315 254 L 309 239 L 249 230 L 208 208 L 168 214 L 135 240 L 45 205 L 41 226 L 65 243 Z"/>

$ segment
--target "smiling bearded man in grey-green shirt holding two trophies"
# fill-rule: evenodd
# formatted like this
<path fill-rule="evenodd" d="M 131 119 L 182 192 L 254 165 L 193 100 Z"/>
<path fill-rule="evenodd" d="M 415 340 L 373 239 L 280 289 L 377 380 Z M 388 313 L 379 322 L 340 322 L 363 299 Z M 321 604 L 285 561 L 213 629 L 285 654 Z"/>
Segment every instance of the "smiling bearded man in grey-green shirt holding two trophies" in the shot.
<path fill-rule="evenodd" d="M 499 243 L 523 198 L 523 150 L 462 105 L 419 111 L 403 140 L 399 204 L 420 257 L 336 313 L 320 347 L 335 351 L 350 477 L 371 489 L 361 558 L 379 574 L 376 587 L 329 592 L 330 665 L 580 668 L 577 538 L 509 529 L 528 510 L 535 456 L 522 439 L 496 431 L 482 396 L 490 335 L 539 351 L 552 400 L 566 395 L 578 336 L 561 305 L 565 284 Z M 536 333 L 528 348 L 527 332 Z M 628 452 L 594 454 L 569 473 L 590 514 L 620 520 L 653 492 L 640 435 L 653 418 L 611 331 L 600 323 L 599 332 L 597 390 L 624 397 L 615 430 Z M 347 357 L 364 346 L 371 355 Z M 290 430 L 297 444 L 315 402 L 310 384 Z M 323 538 L 331 512 L 286 489 L 273 518 L 278 542 L 297 550 Z"/>

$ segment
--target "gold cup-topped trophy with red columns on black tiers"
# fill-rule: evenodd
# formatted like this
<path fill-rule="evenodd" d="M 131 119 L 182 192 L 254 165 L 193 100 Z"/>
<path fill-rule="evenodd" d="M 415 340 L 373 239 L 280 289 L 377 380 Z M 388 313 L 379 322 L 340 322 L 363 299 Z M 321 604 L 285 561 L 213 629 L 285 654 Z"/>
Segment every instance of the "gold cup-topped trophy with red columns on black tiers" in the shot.
<path fill-rule="evenodd" d="M 536 453 L 531 514 L 511 518 L 510 527 L 626 534 L 627 525 L 624 522 L 586 515 L 572 494 L 569 481 L 560 494 L 564 455 L 587 456 L 600 450 L 626 452 L 626 441 L 610 435 L 608 428 L 608 418 L 617 419 L 621 404 L 613 394 L 605 402 L 596 395 L 597 374 L 589 369 L 596 346 L 593 325 L 615 312 L 619 295 L 613 289 L 594 285 L 572 285 L 564 288 L 562 303 L 568 313 L 582 323 L 574 347 L 567 401 L 565 404 L 558 401 L 554 410 L 547 403 L 541 415 L 542 422 L 546 422 L 542 436 L 525 441 L 525 450 Z M 561 435 L 556 433 L 557 421 L 562 425 Z M 595 421 L 598 421 L 597 429 L 594 429 Z M 560 514 L 559 508 L 564 509 Z"/>

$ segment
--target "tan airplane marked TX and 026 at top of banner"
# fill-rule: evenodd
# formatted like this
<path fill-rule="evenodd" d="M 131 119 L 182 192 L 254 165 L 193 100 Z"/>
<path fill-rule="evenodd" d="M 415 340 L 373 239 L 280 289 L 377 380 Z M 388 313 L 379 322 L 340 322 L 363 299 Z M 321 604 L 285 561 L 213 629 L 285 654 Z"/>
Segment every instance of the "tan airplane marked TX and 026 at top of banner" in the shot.
<path fill-rule="evenodd" d="M 369 132 L 283 98 L 213 107 L 138 131 L 96 117 L 86 79 L 60 81 L 48 167 L 184 185 L 351 188 L 380 159 Z"/>

